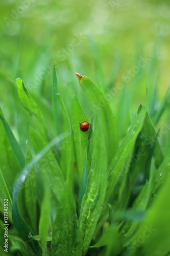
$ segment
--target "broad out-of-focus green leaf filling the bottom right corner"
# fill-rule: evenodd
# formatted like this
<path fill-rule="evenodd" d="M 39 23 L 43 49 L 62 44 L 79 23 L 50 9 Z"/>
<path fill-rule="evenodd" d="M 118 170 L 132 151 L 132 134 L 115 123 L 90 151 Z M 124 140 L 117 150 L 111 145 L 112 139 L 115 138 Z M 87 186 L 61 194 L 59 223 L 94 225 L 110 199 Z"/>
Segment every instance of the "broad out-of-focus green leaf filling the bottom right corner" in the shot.
<path fill-rule="evenodd" d="M 136 238 L 129 246 L 129 256 L 164 256 L 170 250 L 170 179 L 163 184 L 147 216 L 141 222 Z M 140 242 L 139 242 L 140 241 Z"/>

